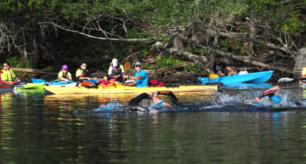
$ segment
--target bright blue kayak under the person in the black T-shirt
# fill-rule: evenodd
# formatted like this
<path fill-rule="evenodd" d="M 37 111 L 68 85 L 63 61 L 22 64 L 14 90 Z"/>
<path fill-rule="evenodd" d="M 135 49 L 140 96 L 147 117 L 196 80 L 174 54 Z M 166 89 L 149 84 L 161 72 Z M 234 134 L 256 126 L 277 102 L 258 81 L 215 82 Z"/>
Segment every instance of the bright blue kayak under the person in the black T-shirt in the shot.
<path fill-rule="evenodd" d="M 254 72 L 247 73 L 242 75 L 233 75 L 233 76 L 220 76 L 214 79 L 209 79 L 208 77 L 199 77 L 202 83 L 208 82 L 222 82 L 222 83 L 264 83 L 268 81 L 274 71 L 263 71 L 263 72 Z"/>

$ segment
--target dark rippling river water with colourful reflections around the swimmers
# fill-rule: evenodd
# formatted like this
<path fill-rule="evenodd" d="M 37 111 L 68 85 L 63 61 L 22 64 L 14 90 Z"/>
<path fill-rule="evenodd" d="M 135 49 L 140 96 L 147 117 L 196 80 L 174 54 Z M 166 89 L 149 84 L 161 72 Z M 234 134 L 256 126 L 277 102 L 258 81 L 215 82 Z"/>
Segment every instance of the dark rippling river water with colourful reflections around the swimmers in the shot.
<path fill-rule="evenodd" d="M 186 108 L 150 113 L 111 104 L 136 94 L 0 93 L 0 163 L 306 163 L 306 108 L 290 101 L 306 88 L 281 83 L 280 104 L 229 103 L 262 86 L 175 93 Z"/>

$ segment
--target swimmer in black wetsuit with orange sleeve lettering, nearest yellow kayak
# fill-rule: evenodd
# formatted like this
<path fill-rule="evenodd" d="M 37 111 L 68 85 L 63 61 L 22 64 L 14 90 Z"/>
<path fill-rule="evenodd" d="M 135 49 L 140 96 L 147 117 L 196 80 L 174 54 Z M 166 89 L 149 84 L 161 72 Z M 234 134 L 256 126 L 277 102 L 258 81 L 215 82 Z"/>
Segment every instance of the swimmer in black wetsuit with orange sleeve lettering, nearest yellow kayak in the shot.
<path fill-rule="evenodd" d="M 171 100 L 171 104 L 167 102 L 162 101 L 159 98 L 156 98 L 157 95 L 168 95 L 170 100 Z M 151 95 L 147 94 L 147 93 L 142 93 L 140 95 L 138 95 L 135 98 L 132 98 L 129 102 L 129 106 L 126 107 L 122 107 L 120 109 L 123 109 L 125 111 L 130 111 L 130 112 L 135 112 L 137 110 L 141 111 L 141 112 L 149 112 L 149 109 L 146 109 L 145 107 L 139 105 L 139 103 L 141 102 L 141 100 L 143 99 L 151 99 L 153 102 L 155 102 L 157 105 L 162 106 L 162 107 L 170 107 L 172 108 L 173 106 L 180 106 L 183 107 L 184 105 L 182 105 L 180 102 L 178 102 L 176 96 L 172 93 L 172 91 L 155 91 L 152 92 Z"/>

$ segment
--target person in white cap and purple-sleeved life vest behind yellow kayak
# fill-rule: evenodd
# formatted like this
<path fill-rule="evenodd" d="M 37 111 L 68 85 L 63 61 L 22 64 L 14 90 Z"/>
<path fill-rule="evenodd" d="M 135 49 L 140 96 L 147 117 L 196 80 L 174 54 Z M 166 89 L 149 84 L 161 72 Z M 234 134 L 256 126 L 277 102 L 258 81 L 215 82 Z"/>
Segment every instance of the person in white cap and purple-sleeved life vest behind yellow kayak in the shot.
<path fill-rule="evenodd" d="M 118 63 L 117 59 L 113 59 L 108 68 L 107 80 L 116 79 L 118 82 L 122 82 L 124 75 L 124 67 Z"/>

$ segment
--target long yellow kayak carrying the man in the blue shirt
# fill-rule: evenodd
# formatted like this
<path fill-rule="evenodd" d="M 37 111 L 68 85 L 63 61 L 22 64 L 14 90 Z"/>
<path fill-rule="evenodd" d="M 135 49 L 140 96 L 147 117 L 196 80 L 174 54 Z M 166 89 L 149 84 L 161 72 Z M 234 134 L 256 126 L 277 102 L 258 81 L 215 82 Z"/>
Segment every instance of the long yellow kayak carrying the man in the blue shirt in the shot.
<path fill-rule="evenodd" d="M 44 86 L 47 91 L 54 94 L 72 94 L 72 93 L 86 93 L 86 94 L 109 94 L 109 93 L 151 93 L 154 91 L 172 91 L 172 92 L 191 92 L 191 91 L 217 91 L 217 85 L 190 85 L 190 86 L 166 86 L 166 87 L 129 87 L 116 83 L 115 86 L 107 86 L 98 88 L 86 87 L 50 87 Z"/>

